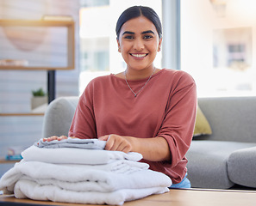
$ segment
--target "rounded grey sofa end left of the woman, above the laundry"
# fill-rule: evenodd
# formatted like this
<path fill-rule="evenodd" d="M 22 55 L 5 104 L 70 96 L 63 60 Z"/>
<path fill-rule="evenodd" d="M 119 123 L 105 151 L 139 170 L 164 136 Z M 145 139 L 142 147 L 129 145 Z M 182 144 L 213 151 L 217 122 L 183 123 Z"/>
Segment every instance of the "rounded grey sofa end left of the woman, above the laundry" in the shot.
<path fill-rule="evenodd" d="M 78 96 L 53 100 L 44 116 L 42 137 L 67 136 L 77 105 Z"/>

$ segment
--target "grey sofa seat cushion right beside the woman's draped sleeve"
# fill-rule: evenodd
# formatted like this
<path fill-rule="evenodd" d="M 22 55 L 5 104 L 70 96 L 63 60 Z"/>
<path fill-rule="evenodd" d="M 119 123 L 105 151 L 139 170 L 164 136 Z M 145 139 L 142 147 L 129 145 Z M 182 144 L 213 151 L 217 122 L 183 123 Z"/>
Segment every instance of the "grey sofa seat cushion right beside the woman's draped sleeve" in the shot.
<path fill-rule="evenodd" d="M 192 187 L 228 189 L 234 183 L 228 179 L 229 155 L 252 143 L 197 140 L 186 154 L 188 178 Z"/>

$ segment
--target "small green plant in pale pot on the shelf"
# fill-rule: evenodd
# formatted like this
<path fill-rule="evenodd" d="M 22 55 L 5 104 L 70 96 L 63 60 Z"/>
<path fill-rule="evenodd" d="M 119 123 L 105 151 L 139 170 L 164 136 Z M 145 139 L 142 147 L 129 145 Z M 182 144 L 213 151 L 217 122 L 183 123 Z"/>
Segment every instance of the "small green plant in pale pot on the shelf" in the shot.
<path fill-rule="evenodd" d="M 33 94 L 33 97 L 31 98 L 31 110 L 34 110 L 39 106 L 47 104 L 48 97 L 42 88 L 33 90 L 32 94 Z"/>

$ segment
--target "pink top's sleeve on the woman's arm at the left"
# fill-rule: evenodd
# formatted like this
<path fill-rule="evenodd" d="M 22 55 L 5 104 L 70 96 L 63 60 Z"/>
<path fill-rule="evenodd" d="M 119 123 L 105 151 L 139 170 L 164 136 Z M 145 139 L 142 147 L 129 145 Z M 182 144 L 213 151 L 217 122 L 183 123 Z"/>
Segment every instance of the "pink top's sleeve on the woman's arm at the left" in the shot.
<path fill-rule="evenodd" d="M 78 100 L 78 106 L 72 119 L 68 136 L 75 136 L 81 139 L 97 137 L 93 110 L 93 82 L 88 84 Z"/>

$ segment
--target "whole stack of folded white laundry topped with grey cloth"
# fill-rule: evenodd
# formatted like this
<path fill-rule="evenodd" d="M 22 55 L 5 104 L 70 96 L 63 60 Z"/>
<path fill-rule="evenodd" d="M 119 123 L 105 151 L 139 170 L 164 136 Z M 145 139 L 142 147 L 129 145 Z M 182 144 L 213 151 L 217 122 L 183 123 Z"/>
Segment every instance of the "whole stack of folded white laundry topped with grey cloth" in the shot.
<path fill-rule="evenodd" d="M 3 194 L 64 203 L 122 205 L 169 191 L 172 180 L 139 162 L 142 155 L 107 151 L 105 141 L 35 142 L 0 179 Z"/>

